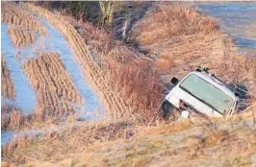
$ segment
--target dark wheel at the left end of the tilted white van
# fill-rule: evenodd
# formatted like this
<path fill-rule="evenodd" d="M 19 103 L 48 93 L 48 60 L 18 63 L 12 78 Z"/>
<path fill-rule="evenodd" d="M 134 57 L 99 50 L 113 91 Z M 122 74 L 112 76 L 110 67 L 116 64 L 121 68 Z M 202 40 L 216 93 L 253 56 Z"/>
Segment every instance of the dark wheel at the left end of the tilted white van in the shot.
<path fill-rule="evenodd" d="M 176 120 L 178 112 L 178 109 L 167 101 L 164 101 L 160 107 L 160 115 L 165 120 Z"/>

